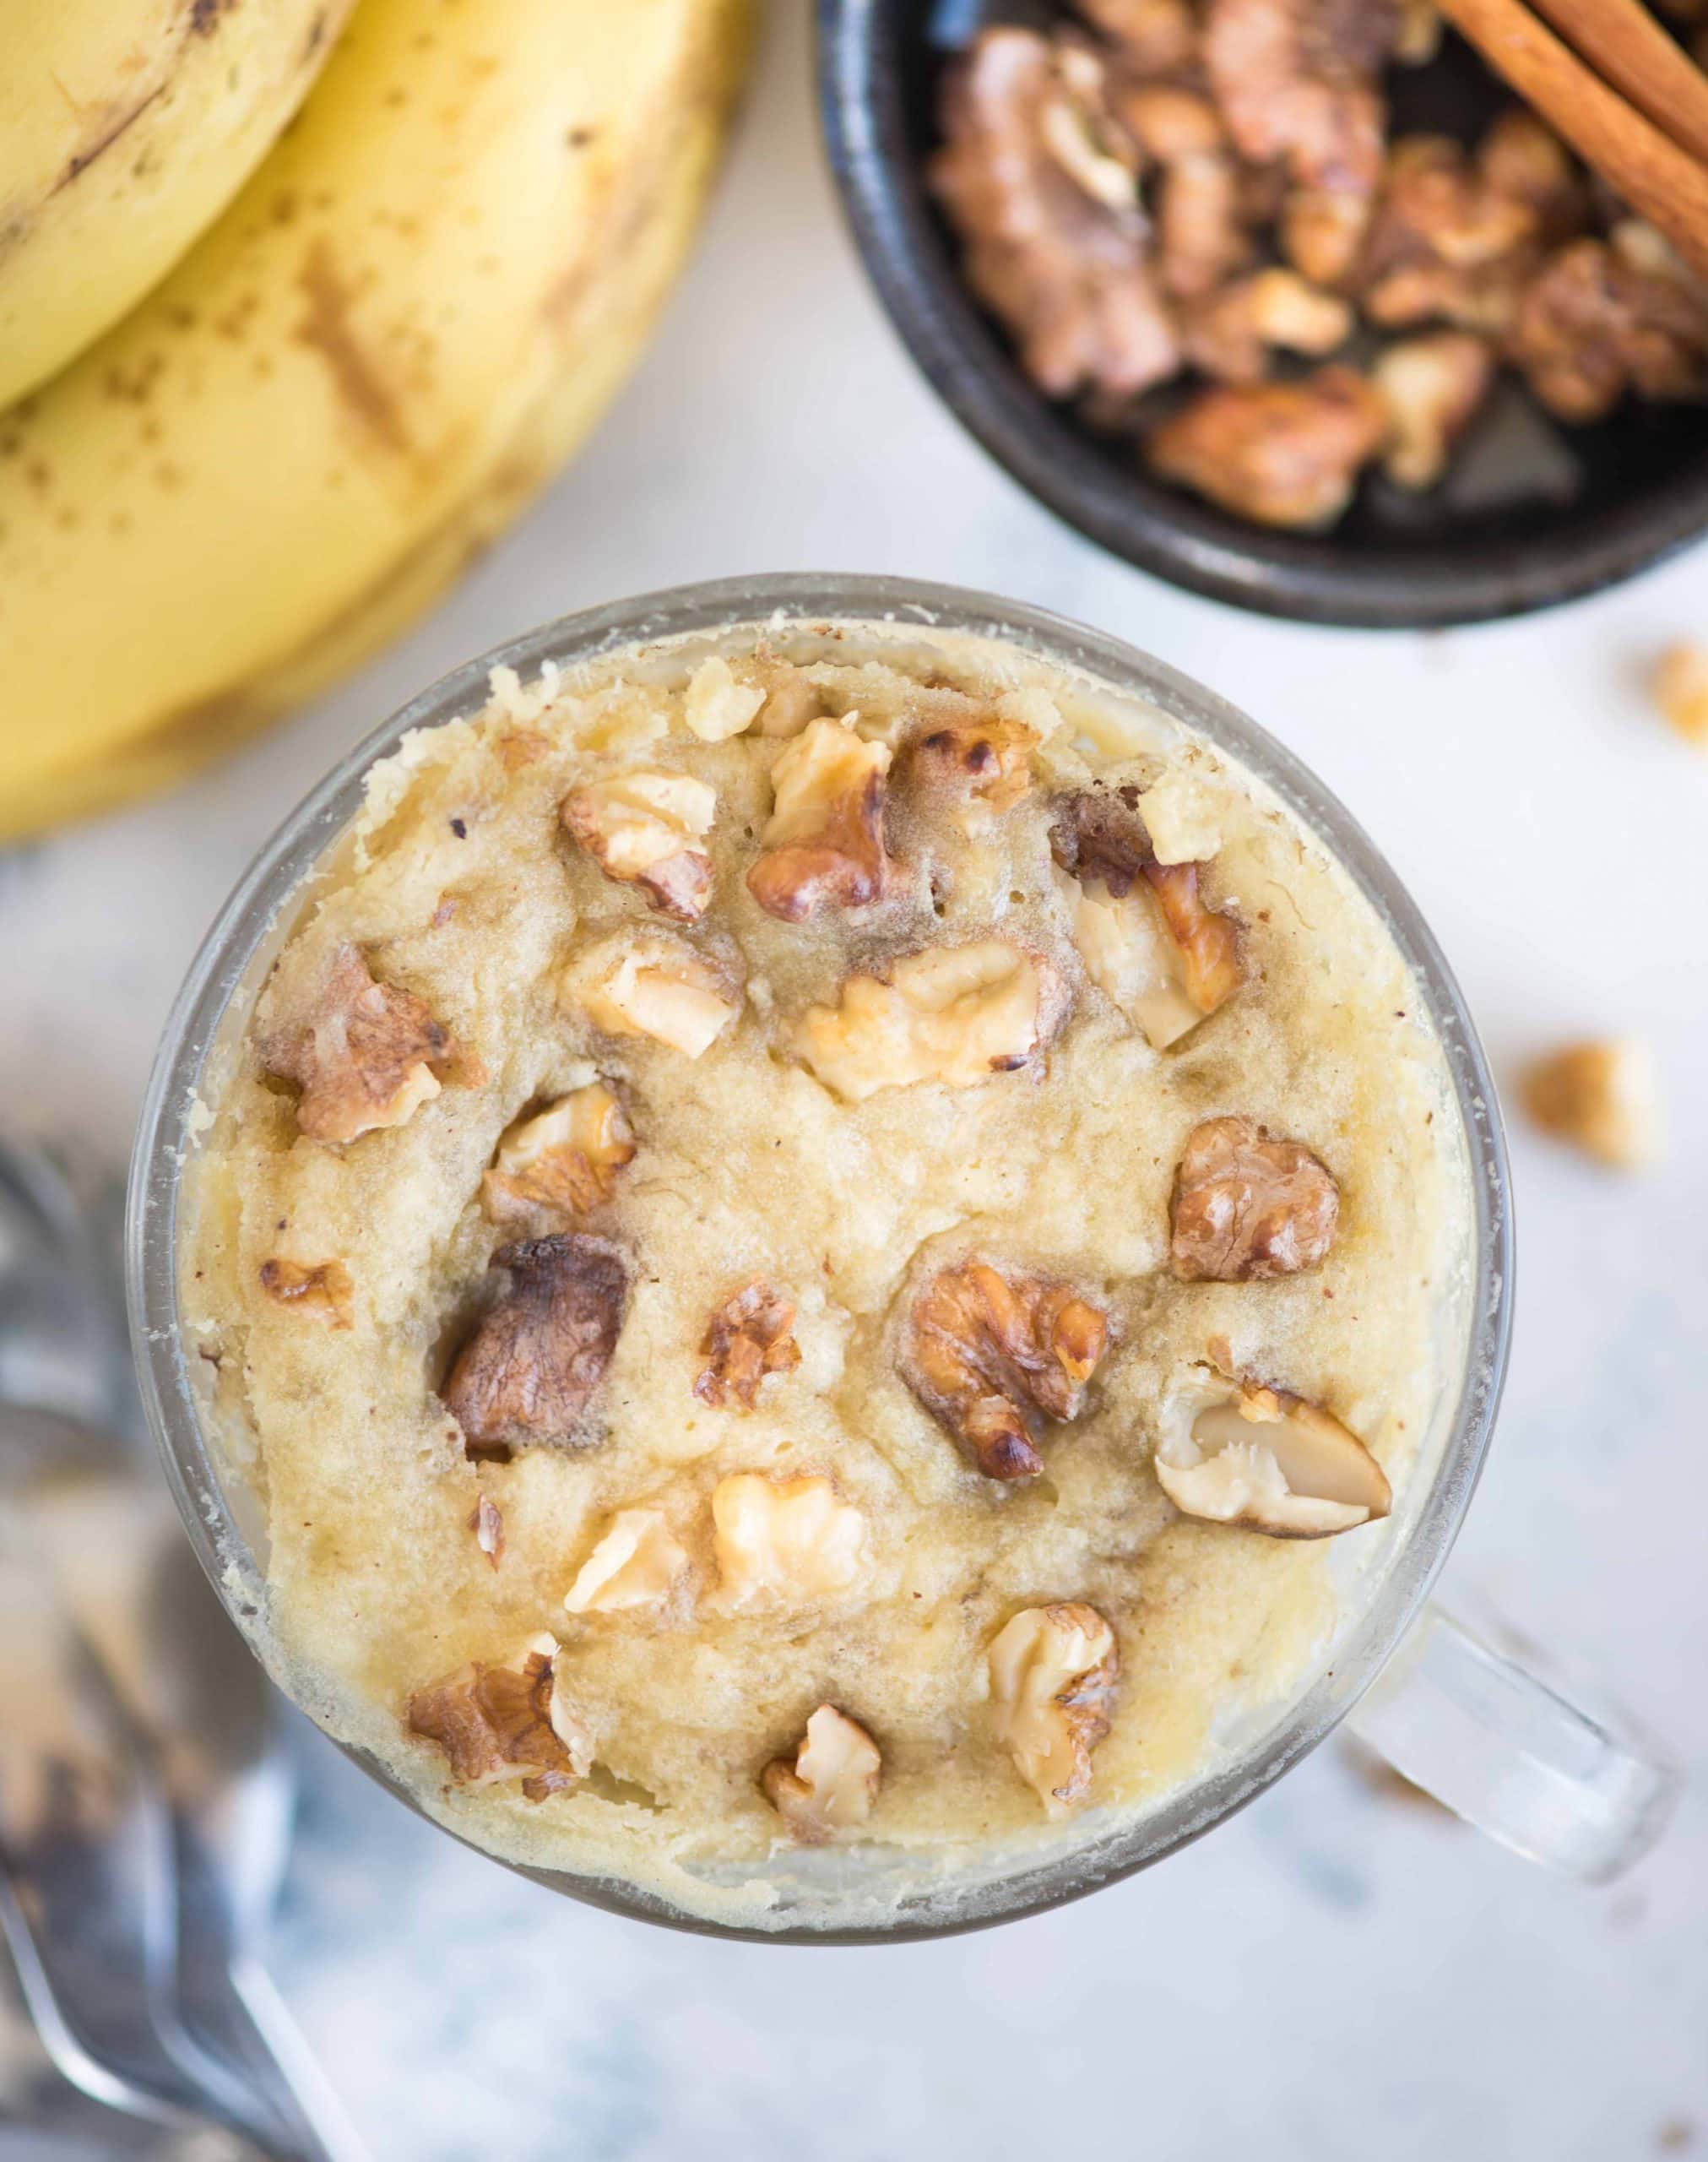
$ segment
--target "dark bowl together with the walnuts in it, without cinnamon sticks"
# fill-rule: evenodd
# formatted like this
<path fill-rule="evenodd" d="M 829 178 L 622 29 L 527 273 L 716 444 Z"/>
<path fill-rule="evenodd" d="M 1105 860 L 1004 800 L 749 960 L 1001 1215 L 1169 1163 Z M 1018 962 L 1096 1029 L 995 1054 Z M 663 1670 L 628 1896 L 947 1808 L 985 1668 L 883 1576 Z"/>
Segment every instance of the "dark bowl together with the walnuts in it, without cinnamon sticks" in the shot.
<path fill-rule="evenodd" d="M 1429 0 L 822 0 L 819 69 L 915 361 L 1129 562 L 1433 627 L 1708 528 L 1708 292 Z"/>

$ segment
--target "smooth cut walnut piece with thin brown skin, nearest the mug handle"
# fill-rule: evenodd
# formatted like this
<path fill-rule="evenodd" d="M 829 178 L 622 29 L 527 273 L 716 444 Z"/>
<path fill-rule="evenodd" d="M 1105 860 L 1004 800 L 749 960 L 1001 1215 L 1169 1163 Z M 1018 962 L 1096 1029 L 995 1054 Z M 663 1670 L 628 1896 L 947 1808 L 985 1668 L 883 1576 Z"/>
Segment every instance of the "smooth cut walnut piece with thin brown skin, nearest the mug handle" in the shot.
<path fill-rule="evenodd" d="M 1157 1483 L 1185 1516 L 1327 1539 L 1386 1516 L 1388 1479 L 1319 1403 L 1198 1366 L 1163 1407 Z"/>

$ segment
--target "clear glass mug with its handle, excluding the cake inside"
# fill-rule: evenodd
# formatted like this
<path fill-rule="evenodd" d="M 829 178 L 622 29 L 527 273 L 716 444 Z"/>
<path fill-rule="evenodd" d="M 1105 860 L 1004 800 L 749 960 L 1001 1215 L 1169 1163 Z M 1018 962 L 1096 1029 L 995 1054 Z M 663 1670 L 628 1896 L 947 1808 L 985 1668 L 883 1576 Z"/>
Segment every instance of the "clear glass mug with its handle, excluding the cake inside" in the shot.
<path fill-rule="evenodd" d="M 1641 1730 L 1593 1691 L 1539 1671 L 1533 1647 L 1475 1632 L 1425 1604 L 1470 1505 L 1494 1429 L 1511 1330 L 1511 1198 L 1494 1085 L 1459 990 L 1395 873 L 1327 789 L 1243 713 L 1113 638 L 1044 610 L 893 577 L 744 577 L 644 595 L 517 638 L 422 692 L 359 744 L 292 811 L 227 902 L 166 1023 L 132 1165 L 130 1314 L 149 1423 L 184 1524 L 214 1589 L 266 1663 L 266 1583 L 257 1559 L 266 1524 L 238 1468 L 221 1459 L 205 1407 L 205 1366 L 186 1358 L 179 1327 L 182 1176 L 195 1161 L 201 1094 L 218 1092 L 221 1062 L 290 934 L 305 882 L 337 848 L 361 804 L 363 778 L 409 729 L 478 711 L 489 670 L 532 681 L 545 662 L 569 668 L 616 649 L 670 640 L 683 668 L 718 649 L 718 633 L 763 627 L 811 649 L 815 627 L 921 625 L 1005 640 L 1087 675 L 1185 722 L 1267 783 L 1360 886 L 1410 964 L 1446 1057 L 1472 1200 L 1472 1254 L 1444 1319 L 1453 1382 L 1418 1449 L 1395 1513 L 1358 1533 L 1340 1585 L 1340 1622 L 1317 1669 L 1286 1706 L 1245 1714 L 1219 1736 L 1200 1773 L 1116 1825 L 1068 1829 L 1055 1846 L 1023 1849 L 953 1877 L 921 1877 L 882 1846 L 809 1849 L 778 1857 L 776 1929 L 711 1922 L 640 1885 L 528 1868 L 523 1874 L 618 1913 L 761 1941 L 889 1941 L 1038 1913 L 1161 1861 L 1219 1825 L 1317 1747 L 1343 1719 L 1405 1777 L 1507 1846 L 1576 1877 L 1604 1881 L 1658 1836 L 1678 1775 Z M 197 1373 L 201 1369 L 201 1373 Z M 1336 1542 L 1340 1546 L 1343 1542 Z M 1338 1561 L 1338 1557 L 1336 1557 Z M 417 1807 L 385 1766 L 346 1749 Z M 884 1892 L 886 1922 L 850 1922 L 850 1898 Z M 750 1874 L 750 1868 L 744 1872 Z M 906 1879 L 906 1881 L 904 1881 Z M 869 1907 L 867 1907 L 869 1913 Z"/>

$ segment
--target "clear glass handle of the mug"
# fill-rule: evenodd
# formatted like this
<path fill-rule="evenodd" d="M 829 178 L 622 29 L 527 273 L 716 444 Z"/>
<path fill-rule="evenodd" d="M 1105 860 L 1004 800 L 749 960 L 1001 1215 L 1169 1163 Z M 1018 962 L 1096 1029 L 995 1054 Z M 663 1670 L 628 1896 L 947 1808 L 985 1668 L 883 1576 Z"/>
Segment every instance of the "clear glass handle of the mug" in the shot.
<path fill-rule="evenodd" d="M 1531 1861 L 1609 1883 L 1654 1846 L 1682 1775 L 1593 1684 L 1498 1619 L 1427 1606 L 1347 1725 L 1395 1771 Z"/>

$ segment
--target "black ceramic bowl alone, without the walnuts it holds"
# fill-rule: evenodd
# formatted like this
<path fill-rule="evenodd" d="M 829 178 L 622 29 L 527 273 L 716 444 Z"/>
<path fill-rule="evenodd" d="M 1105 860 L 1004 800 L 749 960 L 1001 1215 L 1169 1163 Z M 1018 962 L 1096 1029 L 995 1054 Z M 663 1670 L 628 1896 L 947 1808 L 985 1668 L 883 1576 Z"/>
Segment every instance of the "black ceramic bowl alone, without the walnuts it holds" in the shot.
<path fill-rule="evenodd" d="M 1327 534 L 1228 517 L 1144 473 L 1131 441 L 1042 396 L 960 283 L 925 192 L 951 48 L 1014 0 L 819 0 L 819 102 L 854 238 L 915 361 L 1008 471 L 1092 540 L 1176 586 L 1308 623 L 1516 616 L 1630 577 L 1708 530 L 1708 406 L 1628 402 L 1552 428 L 1505 387 L 1427 495 L 1371 478 Z M 1392 84 L 1395 125 L 1470 136 L 1507 93 L 1449 41 Z"/>

